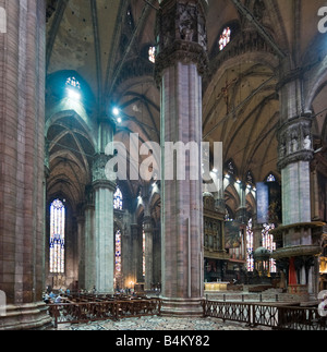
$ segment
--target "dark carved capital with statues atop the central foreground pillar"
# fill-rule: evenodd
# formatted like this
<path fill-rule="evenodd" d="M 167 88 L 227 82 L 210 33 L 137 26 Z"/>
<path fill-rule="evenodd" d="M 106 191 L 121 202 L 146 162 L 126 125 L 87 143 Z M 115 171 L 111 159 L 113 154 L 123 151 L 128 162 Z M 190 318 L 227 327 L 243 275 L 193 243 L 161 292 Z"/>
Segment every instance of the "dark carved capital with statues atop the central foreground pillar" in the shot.
<path fill-rule="evenodd" d="M 160 84 L 165 69 L 175 62 L 197 65 L 198 73 L 208 69 L 206 1 L 164 0 L 157 15 L 158 53 L 155 77 Z"/>

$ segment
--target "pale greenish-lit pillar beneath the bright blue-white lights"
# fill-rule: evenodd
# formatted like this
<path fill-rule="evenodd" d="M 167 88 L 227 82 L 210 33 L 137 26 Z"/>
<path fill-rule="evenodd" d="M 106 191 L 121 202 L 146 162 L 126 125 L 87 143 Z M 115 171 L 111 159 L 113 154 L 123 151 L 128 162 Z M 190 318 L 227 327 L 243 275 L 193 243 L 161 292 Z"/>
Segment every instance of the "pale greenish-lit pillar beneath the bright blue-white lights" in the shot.
<path fill-rule="evenodd" d="M 93 189 L 95 199 L 95 287 L 98 292 L 114 292 L 114 235 L 113 193 L 116 184 L 106 175 L 109 156 L 106 146 L 113 141 L 113 125 L 109 119 L 99 121 L 98 153 L 93 165 Z"/>

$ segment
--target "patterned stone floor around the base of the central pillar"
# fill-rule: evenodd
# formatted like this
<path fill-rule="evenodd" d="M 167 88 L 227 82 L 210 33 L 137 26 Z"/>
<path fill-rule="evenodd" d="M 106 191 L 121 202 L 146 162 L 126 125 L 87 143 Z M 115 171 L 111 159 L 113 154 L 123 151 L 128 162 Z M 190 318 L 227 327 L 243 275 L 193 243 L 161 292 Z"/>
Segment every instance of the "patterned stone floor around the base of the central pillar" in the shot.
<path fill-rule="evenodd" d="M 121 330 L 121 331 L 210 331 L 210 330 L 269 330 L 267 328 L 249 328 L 243 324 L 223 323 L 218 319 L 203 318 L 172 318 L 172 317 L 142 317 L 119 321 L 96 321 L 78 325 L 59 325 L 58 330 Z"/>

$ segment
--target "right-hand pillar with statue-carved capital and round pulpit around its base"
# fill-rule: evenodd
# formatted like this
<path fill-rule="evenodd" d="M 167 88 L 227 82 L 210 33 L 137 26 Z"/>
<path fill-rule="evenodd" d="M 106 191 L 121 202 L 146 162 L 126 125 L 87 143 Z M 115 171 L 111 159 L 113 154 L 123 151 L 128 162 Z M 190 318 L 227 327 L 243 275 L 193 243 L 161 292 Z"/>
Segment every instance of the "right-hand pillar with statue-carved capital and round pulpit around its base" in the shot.
<path fill-rule="evenodd" d="M 312 222 L 311 214 L 310 163 L 314 151 L 312 117 L 302 109 L 303 89 L 299 71 L 282 71 L 278 87 L 281 112 L 278 167 L 282 183 L 282 226 L 274 231 L 282 239 L 282 245 L 274 257 L 287 264 L 289 289 L 302 290 L 300 284 L 305 284 L 306 293 L 314 294 L 312 270 L 320 248 L 313 238 L 313 228 L 318 224 Z"/>

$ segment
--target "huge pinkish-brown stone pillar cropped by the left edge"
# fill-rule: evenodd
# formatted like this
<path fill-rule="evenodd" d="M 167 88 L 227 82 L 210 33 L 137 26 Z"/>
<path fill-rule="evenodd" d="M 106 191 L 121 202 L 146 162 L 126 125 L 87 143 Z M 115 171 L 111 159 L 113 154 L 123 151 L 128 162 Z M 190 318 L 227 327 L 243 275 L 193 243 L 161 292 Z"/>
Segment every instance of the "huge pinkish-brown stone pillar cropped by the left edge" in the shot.
<path fill-rule="evenodd" d="M 1 0 L 0 7 L 7 19 L 0 33 L 0 290 L 8 304 L 0 329 L 33 329 L 49 323 L 41 303 L 46 4 Z"/>

